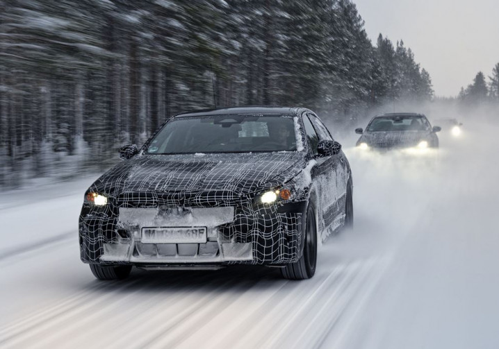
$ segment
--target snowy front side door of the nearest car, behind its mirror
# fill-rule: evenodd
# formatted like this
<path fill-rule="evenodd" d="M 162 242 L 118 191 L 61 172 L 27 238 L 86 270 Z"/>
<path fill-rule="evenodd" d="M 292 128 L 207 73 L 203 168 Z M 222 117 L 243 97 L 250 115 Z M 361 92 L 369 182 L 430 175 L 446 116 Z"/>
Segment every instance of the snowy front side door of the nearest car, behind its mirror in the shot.
<path fill-rule="evenodd" d="M 325 135 L 320 135 L 316 128 L 313 126 L 310 113 L 304 112 L 302 114 L 302 120 L 305 128 L 306 138 L 309 142 L 309 146 L 314 159 L 316 160 L 316 169 L 313 171 L 315 174 L 314 186 L 316 189 L 316 194 L 318 196 L 318 201 L 316 203 L 317 215 L 319 229 L 322 232 L 322 239 L 325 239 L 329 235 L 329 227 L 334 222 L 336 216 L 336 161 L 334 158 L 336 155 L 332 155 L 325 158 L 318 158 L 317 144 L 320 140 L 326 140 Z M 322 139 L 321 139 L 322 137 Z M 329 137 L 331 137 L 329 135 Z"/>

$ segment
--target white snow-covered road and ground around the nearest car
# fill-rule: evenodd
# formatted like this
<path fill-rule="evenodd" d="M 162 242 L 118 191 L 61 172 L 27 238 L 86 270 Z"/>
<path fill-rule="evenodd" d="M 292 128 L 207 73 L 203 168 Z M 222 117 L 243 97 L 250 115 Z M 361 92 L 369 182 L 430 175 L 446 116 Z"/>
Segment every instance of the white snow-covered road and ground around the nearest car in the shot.
<path fill-rule="evenodd" d="M 302 282 L 252 267 L 99 282 L 76 236 L 92 178 L 2 193 L 0 347 L 498 348 L 499 128 L 465 130 L 435 169 L 340 139 L 355 228 Z"/>

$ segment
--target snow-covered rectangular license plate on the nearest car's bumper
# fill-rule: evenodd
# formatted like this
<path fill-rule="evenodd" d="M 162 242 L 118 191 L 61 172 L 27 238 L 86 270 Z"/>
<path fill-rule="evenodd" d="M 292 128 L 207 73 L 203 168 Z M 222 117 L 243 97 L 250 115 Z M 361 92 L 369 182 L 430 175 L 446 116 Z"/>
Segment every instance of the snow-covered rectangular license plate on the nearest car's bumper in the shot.
<path fill-rule="evenodd" d="M 205 244 L 206 228 L 142 228 L 142 244 Z"/>

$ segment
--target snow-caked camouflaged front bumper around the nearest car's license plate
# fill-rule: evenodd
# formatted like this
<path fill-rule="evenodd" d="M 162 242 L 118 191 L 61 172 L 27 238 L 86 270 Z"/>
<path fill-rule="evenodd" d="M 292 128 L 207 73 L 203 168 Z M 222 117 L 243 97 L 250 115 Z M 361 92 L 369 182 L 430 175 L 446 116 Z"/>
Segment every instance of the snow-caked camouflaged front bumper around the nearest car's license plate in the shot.
<path fill-rule="evenodd" d="M 79 221 L 81 260 L 92 264 L 181 266 L 296 262 L 302 253 L 306 202 L 252 207 L 109 207 L 83 205 Z M 144 227 L 207 229 L 206 243 L 149 244 Z"/>

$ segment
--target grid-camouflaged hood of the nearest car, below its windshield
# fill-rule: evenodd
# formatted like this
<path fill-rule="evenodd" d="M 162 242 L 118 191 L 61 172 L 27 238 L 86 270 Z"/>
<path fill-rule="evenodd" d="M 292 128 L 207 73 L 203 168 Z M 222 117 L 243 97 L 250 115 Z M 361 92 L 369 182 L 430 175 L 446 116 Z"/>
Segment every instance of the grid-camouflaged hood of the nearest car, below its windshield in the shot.
<path fill-rule="evenodd" d="M 115 197 L 196 191 L 245 195 L 282 185 L 302 171 L 304 158 L 300 152 L 136 155 L 104 173 L 89 190 Z"/>

